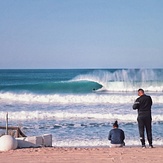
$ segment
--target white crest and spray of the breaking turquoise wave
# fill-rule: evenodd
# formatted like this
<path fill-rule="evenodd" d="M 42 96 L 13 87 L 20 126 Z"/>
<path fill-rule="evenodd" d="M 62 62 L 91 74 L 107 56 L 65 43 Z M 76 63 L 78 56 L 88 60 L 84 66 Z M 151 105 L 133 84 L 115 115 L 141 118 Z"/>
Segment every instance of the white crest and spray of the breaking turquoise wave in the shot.
<path fill-rule="evenodd" d="M 102 85 L 99 91 L 124 92 L 137 91 L 143 88 L 145 91 L 163 91 L 163 70 L 152 69 L 127 69 L 127 70 L 94 70 L 88 74 L 78 75 L 73 80 L 87 80 Z"/>

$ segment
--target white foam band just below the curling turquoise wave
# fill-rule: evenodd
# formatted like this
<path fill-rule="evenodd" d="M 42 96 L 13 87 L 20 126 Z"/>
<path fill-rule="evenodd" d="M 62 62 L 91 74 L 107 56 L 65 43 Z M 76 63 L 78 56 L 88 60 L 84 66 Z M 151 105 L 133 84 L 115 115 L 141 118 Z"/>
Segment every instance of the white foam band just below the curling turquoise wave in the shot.
<path fill-rule="evenodd" d="M 35 95 L 35 94 L 14 94 L 14 93 L 0 93 L 0 100 L 4 102 L 16 101 L 27 103 L 62 103 L 62 104 L 133 104 L 137 98 L 136 93 L 107 93 L 107 94 L 85 94 L 85 95 Z M 154 103 L 163 103 L 163 95 L 155 93 L 152 95 Z"/>

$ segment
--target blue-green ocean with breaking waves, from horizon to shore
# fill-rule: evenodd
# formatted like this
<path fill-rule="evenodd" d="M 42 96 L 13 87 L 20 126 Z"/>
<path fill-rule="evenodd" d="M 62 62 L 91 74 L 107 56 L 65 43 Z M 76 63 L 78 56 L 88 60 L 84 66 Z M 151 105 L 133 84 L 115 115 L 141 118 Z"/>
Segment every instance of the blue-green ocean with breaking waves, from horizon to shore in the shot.
<path fill-rule="evenodd" d="M 118 120 L 127 146 L 140 145 L 137 111 L 143 88 L 153 100 L 153 144 L 163 145 L 163 69 L 0 70 L 0 126 L 27 136 L 52 134 L 53 146 L 109 146 Z M 1 131 L 3 132 L 3 131 Z"/>

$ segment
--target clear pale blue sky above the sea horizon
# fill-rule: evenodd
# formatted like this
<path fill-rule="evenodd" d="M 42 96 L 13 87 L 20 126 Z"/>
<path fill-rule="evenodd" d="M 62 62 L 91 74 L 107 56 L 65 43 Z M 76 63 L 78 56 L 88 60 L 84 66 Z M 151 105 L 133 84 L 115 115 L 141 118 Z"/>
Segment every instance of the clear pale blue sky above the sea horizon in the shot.
<path fill-rule="evenodd" d="M 163 1 L 0 0 L 0 68 L 163 68 Z"/>

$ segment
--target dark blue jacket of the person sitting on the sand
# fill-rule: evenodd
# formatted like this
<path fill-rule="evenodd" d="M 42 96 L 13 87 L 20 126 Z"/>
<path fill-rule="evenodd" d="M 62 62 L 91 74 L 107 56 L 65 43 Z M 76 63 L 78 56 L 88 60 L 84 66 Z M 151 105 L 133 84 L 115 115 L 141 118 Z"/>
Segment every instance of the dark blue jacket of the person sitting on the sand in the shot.
<path fill-rule="evenodd" d="M 124 144 L 124 131 L 119 128 L 114 128 L 110 130 L 108 139 L 111 140 L 111 144 Z"/>

